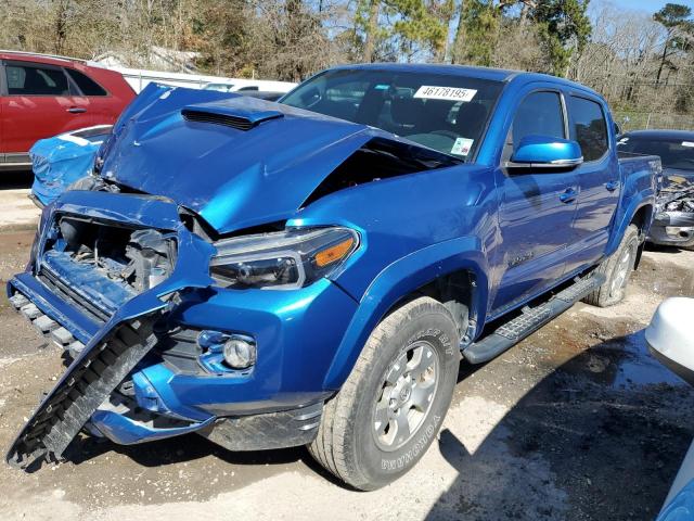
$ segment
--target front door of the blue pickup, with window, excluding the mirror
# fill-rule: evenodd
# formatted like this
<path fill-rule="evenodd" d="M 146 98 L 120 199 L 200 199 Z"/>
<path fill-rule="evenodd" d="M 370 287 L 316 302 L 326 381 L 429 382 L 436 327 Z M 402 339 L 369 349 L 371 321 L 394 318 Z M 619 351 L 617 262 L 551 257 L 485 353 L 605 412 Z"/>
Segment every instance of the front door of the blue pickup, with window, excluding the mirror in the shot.
<path fill-rule="evenodd" d="M 556 284 L 564 275 L 571 238 L 578 192 L 574 171 L 503 167 L 526 136 L 566 139 L 564 103 L 554 86 L 525 94 L 506 138 L 497 178 L 501 243 L 496 264 L 501 276 L 497 276 L 492 315 Z"/>

